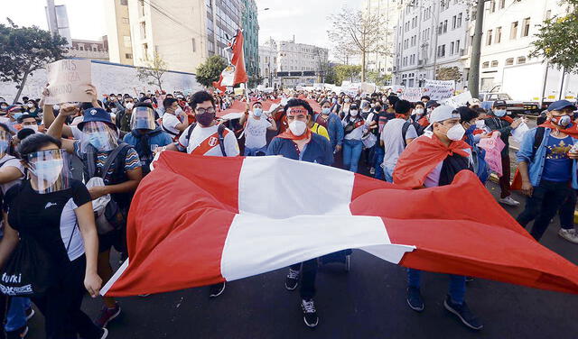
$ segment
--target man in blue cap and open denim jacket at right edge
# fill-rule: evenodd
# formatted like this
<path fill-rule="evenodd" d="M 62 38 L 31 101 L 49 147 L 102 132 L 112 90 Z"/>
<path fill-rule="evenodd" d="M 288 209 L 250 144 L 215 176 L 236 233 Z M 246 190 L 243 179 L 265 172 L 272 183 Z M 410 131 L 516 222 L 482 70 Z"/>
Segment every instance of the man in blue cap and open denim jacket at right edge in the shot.
<path fill-rule="evenodd" d="M 578 188 L 575 161 L 578 146 L 574 146 L 578 144 L 578 129 L 572 122 L 575 110 L 576 106 L 567 100 L 549 105 L 546 122 L 524 134 L 517 151 L 521 189 L 527 195 L 527 202 L 516 220 L 524 227 L 534 220 L 530 234 L 538 241 L 564 201 Z M 570 215 L 573 216 L 573 212 Z M 561 215 L 561 221 L 563 219 Z M 562 223 L 558 235 L 578 243 L 572 219 Z"/>

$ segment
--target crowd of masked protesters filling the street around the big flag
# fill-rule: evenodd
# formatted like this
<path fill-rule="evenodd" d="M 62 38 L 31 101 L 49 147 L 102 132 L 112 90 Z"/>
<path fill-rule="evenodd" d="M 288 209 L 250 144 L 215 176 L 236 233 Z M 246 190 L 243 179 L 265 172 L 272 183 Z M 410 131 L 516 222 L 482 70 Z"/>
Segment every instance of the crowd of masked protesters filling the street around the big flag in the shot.
<path fill-rule="evenodd" d="M 33 281 L 42 293 L 0 300 L 6 306 L 0 309 L 9 338 L 27 334 L 32 303 L 45 317 L 48 338 L 107 337 L 107 324 L 121 313 L 120 304 L 102 298 L 101 312 L 91 320 L 80 309 L 82 298 L 87 291 L 99 298 L 103 281 L 113 274 L 113 249 L 126 259 L 131 199 L 162 151 L 223 157 L 282 155 L 403 185 L 403 174 L 411 174 L 409 164 L 423 155 L 421 148 L 446 150 L 447 157 L 418 178 L 423 184 L 412 187 L 431 188 L 451 184 L 463 169 L 475 172 L 485 185 L 490 168 L 480 142 L 499 137 L 506 144 L 501 151 L 499 203 L 519 204 L 511 196 L 508 141 L 524 120 L 510 117 L 503 101 L 485 110 L 476 99 L 452 107 L 428 96 L 409 102 L 391 93 L 350 96 L 322 89 L 247 96 L 207 91 L 186 96 L 163 91 L 98 96 L 98 88 L 91 87 L 87 94 L 91 102 L 60 105 L 43 103 L 46 89 L 40 98 L 23 97 L 14 105 L 0 98 L 4 211 L 0 266 L 14 261 L 11 254 L 26 243 L 33 244 L 34 255 L 48 258 L 45 267 L 34 268 L 38 277 L 46 270 L 58 272 L 52 274 L 54 279 Z M 266 110 L 264 103 L 271 100 L 278 104 Z M 240 118 L 219 118 L 219 112 L 235 102 L 244 105 Z M 578 243 L 573 224 L 578 188 L 575 111 L 576 106 L 565 100 L 550 105 L 517 151 L 519 189 L 527 195 L 517 221 L 525 227 L 534 221 L 530 234 L 538 241 L 559 214 L 558 234 Z M 284 287 L 299 287 L 306 325 L 319 323 L 313 301 L 318 265 L 326 261 L 349 265 L 350 253 L 333 253 L 288 269 Z M 420 271 L 407 270 L 407 305 L 417 312 L 424 311 L 420 279 Z M 480 330 L 480 319 L 465 301 L 468 280 L 450 276 L 443 306 L 464 325 Z M 224 290 L 225 283 L 213 285 L 210 297 Z"/>

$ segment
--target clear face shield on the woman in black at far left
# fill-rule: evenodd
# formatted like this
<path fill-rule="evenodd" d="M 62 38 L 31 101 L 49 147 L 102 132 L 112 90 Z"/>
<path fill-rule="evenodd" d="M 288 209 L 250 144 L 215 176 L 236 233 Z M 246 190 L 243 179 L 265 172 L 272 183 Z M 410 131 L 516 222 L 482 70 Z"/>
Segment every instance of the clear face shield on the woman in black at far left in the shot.
<path fill-rule="evenodd" d="M 36 151 L 27 154 L 25 160 L 28 178 L 38 193 L 53 193 L 70 188 L 72 174 L 66 151 Z"/>

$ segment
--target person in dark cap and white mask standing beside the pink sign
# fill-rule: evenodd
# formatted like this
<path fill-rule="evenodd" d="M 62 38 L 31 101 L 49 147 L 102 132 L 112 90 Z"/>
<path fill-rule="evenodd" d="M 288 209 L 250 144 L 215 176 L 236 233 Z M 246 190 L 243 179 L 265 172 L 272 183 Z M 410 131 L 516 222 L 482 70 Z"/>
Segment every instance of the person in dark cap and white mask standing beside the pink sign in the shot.
<path fill-rule="evenodd" d="M 502 176 L 499 178 L 500 198 L 499 203 L 508 206 L 518 206 L 520 203 L 511 197 L 510 192 L 510 159 L 509 159 L 509 136 L 512 130 L 522 124 L 522 119 L 514 120 L 508 116 L 507 104 L 504 100 L 496 100 L 489 112 L 490 117 L 484 120 L 486 127 L 493 133 L 499 132 L 499 137 L 506 144 L 501 152 Z"/>

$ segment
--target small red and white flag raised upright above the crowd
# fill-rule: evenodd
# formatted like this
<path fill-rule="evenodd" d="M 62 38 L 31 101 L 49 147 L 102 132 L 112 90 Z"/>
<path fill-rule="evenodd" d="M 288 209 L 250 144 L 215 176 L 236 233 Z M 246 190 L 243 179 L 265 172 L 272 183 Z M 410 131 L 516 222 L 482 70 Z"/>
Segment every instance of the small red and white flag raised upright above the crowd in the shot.
<path fill-rule="evenodd" d="M 228 43 L 231 58 L 227 68 L 220 73 L 219 81 L 213 82 L 213 87 L 225 92 L 228 87 L 237 84 L 246 83 L 248 80 L 247 71 L 245 70 L 245 54 L 243 52 L 243 31 L 237 30 L 237 35 L 231 38 Z"/>

